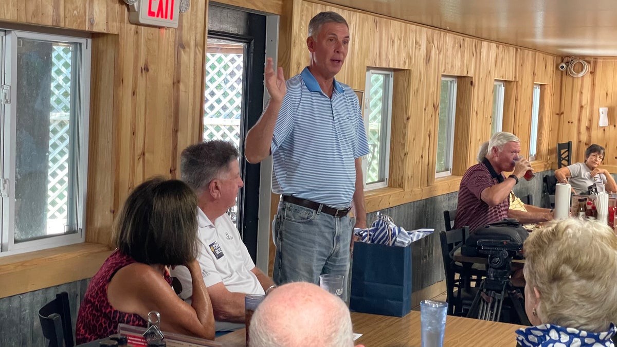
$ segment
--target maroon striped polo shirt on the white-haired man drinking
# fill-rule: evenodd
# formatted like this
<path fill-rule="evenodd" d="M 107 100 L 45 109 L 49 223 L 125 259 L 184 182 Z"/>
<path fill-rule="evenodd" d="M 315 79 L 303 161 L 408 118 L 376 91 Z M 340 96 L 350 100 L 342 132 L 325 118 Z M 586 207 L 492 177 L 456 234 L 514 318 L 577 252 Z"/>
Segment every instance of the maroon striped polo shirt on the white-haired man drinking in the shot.
<path fill-rule="evenodd" d="M 503 174 L 498 174 L 505 180 Z M 482 225 L 497 222 L 508 217 L 510 201 L 503 199 L 497 206 L 489 206 L 480 199 L 480 194 L 486 188 L 499 183 L 497 178 L 491 176 L 491 172 L 483 163 L 473 165 L 465 172 L 458 188 L 457 217 L 454 220 L 455 228 L 465 225 L 473 232 Z"/>

